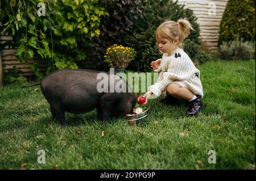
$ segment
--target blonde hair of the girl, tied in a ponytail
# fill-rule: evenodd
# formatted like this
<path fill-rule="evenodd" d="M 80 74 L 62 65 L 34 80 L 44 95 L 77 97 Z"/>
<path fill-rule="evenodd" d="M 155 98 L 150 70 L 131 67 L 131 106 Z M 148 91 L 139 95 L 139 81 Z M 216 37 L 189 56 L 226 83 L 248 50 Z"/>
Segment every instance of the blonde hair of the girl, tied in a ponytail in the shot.
<path fill-rule="evenodd" d="M 160 24 L 155 31 L 156 46 L 158 47 L 158 40 L 160 38 L 168 39 L 173 43 L 175 38 L 178 37 L 178 46 L 183 48 L 182 42 L 189 35 L 190 29 L 194 30 L 186 19 L 179 19 L 177 22 L 166 21 Z"/>

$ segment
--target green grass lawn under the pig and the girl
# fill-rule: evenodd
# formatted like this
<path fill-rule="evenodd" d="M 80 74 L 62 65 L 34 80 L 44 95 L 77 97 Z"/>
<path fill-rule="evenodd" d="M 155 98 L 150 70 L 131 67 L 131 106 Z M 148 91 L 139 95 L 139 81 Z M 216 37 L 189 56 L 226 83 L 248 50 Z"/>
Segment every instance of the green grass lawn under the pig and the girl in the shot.
<path fill-rule="evenodd" d="M 206 105 L 199 115 L 151 99 L 147 119 L 134 127 L 124 119 L 102 124 L 95 110 L 67 113 L 71 127 L 61 127 L 36 87 L 1 87 L 0 169 L 255 169 L 255 61 L 198 68 Z M 46 164 L 37 162 L 41 149 Z"/>

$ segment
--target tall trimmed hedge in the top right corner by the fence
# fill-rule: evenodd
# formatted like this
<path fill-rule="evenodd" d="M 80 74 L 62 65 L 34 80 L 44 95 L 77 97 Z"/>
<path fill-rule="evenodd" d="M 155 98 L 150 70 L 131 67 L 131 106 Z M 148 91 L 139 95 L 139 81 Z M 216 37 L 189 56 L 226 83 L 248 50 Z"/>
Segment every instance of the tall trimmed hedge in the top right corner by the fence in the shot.
<path fill-rule="evenodd" d="M 255 0 L 229 0 L 219 29 L 218 44 L 238 38 L 255 41 Z"/>

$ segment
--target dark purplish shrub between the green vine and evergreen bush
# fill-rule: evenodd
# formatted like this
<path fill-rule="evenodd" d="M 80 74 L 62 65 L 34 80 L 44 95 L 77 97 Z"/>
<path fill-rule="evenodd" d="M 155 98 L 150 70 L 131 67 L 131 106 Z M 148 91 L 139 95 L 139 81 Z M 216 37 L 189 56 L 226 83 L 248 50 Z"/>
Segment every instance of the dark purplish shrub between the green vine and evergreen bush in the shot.
<path fill-rule="evenodd" d="M 90 39 L 88 56 L 81 64 L 83 68 L 108 68 L 103 61 L 106 49 L 113 44 L 125 44 L 123 37 L 133 33 L 135 24 L 142 16 L 141 0 L 111 0 L 105 2 L 105 7 L 109 16 L 101 19 L 100 36 Z"/>

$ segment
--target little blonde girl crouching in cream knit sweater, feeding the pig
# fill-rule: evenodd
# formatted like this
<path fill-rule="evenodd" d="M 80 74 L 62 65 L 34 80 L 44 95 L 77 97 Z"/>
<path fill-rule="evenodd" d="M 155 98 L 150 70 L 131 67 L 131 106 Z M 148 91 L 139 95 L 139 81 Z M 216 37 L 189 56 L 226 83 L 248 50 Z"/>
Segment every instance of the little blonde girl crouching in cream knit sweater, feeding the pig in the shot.
<path fill-rule="evenodd" d="M 167 21 L 156 29 L 156 45 L 163 57 L 151 62 L 151 68 L 159 73 L 158 82 L 148 87 L 144 94 L 166 96 L 165 102 L 172 103 L 176 98 L 191 102 L 187 113 L 195 115 L 203 107 L 203 87 L 200 81 L 200 71 L 195 67 L 187 53 L 182 49 L 183 40 L 193 30 L 188 20 L 180 19 L 176 22 Z M 169 94 L 169 95 L 168 95 Z"/>

